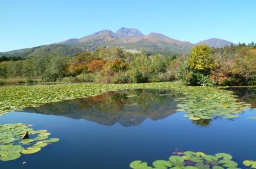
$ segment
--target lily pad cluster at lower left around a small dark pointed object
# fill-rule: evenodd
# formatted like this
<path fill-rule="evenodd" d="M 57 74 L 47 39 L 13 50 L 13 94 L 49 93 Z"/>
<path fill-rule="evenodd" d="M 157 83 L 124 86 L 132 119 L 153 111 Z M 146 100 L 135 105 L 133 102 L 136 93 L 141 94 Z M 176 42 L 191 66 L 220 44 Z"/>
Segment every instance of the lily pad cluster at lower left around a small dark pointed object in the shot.
<path fill-rule="evenodd" d="M 0 125 L 0 160 L 10 161 L 20 158 L 21 154 L 33 154 L 49 143 L 58 142 L 59 138 L 49 138 L 47 130 L 29 128 L 22 123 Z M 29 138 L 22 139 L 28 131 Z"/>

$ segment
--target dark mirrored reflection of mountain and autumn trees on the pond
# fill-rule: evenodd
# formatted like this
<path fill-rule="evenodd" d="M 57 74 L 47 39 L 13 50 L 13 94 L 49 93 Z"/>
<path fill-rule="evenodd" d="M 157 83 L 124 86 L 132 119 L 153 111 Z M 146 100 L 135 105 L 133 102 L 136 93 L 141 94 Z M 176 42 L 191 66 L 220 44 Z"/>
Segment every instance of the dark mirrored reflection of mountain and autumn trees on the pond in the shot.
<path fill-rule="evenodd" d="M 129 90 L 107 92 L 100 96 L 49 103 L 24 112 L 86 119 L 107 126 L 137 126 L 145 119 L 164 119 L 175 113 L 175 93 L 168 90 Z"/>

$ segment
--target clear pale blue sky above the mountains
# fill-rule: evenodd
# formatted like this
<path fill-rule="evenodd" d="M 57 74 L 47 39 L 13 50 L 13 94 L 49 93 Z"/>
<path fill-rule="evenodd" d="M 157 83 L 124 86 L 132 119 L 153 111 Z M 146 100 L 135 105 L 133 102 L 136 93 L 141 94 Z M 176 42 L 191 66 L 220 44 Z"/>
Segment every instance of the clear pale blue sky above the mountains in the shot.
<path fill-rule="evenodd" d="M 1 0 L 0 52 L 120 27 L 196 43 L 256 41 L 255 0 Z"/>

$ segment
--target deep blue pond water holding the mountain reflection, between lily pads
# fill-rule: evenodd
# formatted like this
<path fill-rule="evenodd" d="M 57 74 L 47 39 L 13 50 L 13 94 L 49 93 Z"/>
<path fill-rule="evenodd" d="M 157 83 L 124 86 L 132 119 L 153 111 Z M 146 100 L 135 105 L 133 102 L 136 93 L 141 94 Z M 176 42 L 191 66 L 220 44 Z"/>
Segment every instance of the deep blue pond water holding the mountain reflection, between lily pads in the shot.
<path fill-rule="evenodd" d="M 4 114 L 0 124 L 32 124 L 33 129 L 47 129 L 60 141 L 35 154 L 0 161 L 0 168 L 128 169 L 134 160 L 151 165 L 157 159 L 168 160 L 175 151 L 225 152 L 232 154 L 240 168 L 246 168 L 243 160 L 256 159 L 256 121 L 248 119 L 256 116 L 252 109 L 256 89 L 226 90 L 238 96 L 226 99 L 228 105 L 234 102 L 232 107 L 222 102 L 221 108 L 216 103 L 205 107 L 211 103 L 210 96 L 210 102 L 194 100 L 204 115 L 191 106 L 186 92 L 150 89 L 107 92 Z M 237 109 L 240 102 L 250 103 L 251 108 Z M 225 112 L 222 116 L 221 111 Z"/>

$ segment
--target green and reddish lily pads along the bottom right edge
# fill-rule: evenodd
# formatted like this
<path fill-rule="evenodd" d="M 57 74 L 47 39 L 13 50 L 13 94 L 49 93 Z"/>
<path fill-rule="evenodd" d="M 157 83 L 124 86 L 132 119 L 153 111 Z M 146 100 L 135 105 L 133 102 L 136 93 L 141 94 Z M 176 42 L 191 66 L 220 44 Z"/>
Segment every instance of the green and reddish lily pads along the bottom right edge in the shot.
<path fill-rule="evenodd" d="M 244 161 L 244 165 L 256 165 L 256 161 Z M 137 160 L 130 164 L 133 169 L 239 169 L 238 164 L 232 160 L 232 156 L 226 153 L 217 153 L 215 156 L 204 152 L 179 152 L 170 156 L 168 160 L 157 160 L 148 166 L 147 163 Z M 253 168 L 253 167 L 252 167 Z"/>

